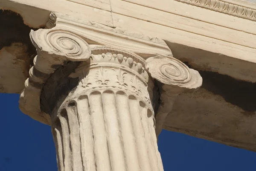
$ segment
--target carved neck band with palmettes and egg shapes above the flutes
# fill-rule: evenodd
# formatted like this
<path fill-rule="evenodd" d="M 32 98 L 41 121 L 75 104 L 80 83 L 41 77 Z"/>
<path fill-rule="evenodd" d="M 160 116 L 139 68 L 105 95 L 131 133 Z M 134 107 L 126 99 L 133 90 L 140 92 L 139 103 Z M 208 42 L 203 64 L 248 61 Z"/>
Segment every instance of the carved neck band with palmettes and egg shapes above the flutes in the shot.
<path fill-rule="evenodd" d="M 99 48 L 102 49 L 104 46 Z M 105 50 L 108 50 L 108 47 Z M 134 58 L 127 58 L 122 54 L 109 52 L 92 54 L 90 60 L 81 63 L 70 77 L 79 77 L 81 79 L 79 86 L 87 89 L 111 88 L 134 93 L 151 106 L 147 84 L 148 73 L 143 67 L 144 64 L 135 62 L 136 58 L 136 55 Z M 151 110 L 153 111 L 152 108 Z"/>

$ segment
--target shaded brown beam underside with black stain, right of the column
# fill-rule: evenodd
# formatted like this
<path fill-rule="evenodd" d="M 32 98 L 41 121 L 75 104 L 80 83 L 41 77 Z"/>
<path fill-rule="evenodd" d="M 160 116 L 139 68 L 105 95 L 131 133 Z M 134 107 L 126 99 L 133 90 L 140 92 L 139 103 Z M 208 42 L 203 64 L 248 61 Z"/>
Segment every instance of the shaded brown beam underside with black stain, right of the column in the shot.
<path fill-rule="evenodd" d="M 203 85 L 177 97 L 163 128 L 256 151 L 256 84 L 216 72 L 199 73 Z"/>

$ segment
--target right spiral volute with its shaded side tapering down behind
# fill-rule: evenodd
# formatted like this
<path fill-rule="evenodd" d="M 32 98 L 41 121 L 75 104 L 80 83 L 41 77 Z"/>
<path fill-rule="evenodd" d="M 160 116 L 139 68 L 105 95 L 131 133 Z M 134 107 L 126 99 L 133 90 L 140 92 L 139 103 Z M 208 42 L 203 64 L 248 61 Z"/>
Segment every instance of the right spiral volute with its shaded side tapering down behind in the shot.
<path fill-rule="evenodd" d="M 146 60 L 146 70 L 161 87 L 160 104 L 156 113 L 156 133 L 160 134 L 166 116 L 172 111 L 176 97 L 185 90 L 195 90 L 202 85 L 198 71 L 190 69 L 181 61 L 158 55 Z"/>

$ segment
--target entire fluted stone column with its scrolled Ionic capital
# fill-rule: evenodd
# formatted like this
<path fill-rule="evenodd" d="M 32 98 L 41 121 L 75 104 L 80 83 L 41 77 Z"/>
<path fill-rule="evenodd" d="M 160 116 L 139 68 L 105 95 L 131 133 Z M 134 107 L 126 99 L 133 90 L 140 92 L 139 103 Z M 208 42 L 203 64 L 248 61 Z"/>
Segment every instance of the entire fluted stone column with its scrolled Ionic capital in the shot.
<path fill-rule="evenodd" d="M 200 74 L 158 38 L 58 13 L 46 26 L 30 33 L 37 56 L 19 102 L 51 125 L 58 170 L 163 171 L 157 135 Z"/>

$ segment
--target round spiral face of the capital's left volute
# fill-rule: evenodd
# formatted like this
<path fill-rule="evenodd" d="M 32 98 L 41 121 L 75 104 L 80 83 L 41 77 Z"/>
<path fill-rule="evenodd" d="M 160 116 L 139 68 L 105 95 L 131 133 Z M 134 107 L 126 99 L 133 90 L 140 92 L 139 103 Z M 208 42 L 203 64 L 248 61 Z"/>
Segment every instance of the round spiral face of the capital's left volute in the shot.
<path fill-rule="evenodd" d="M 61 29 L 31 31 L 31 40 L 43 52 L 65 56 L 70 61 L 85 61 L 90 57 L 89 44 L 79 35 Z"/>

